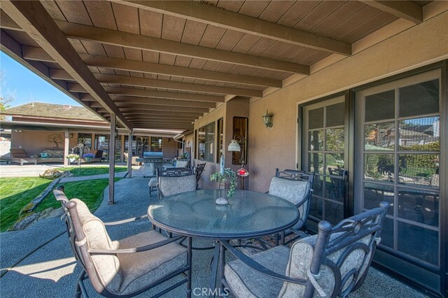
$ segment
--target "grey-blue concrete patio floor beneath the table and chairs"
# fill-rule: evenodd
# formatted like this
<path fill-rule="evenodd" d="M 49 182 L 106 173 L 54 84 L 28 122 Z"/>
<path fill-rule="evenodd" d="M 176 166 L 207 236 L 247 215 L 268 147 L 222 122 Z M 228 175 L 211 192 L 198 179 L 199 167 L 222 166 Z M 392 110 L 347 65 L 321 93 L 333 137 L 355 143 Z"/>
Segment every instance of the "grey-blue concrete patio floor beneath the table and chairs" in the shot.
<path fill-rule="evenodd" d="M 148 178 L 125 178 L 116 183 L 116 204 L 104 201 L 95 215 L 104 221 L 122 220 L 146 214 L 156 197 L 148 197 Z M 132 195 L 129 190 L 132 188 Z M 122 239 L 151 229 L 148 220 L 108 228 L 111 239 Z M 195 239 L 195 242 L 201 241 Z M 211 250 L 193 251 L 193 289 L 208 285 Z M 19 232 L 0 234 L 0 297 L 71 297 L 80 267 L 73 257 L 63 222 L 48 218 Z M 6 273 L 5 273 L 6 271 Z M 91 297 L 99 297 L 90 282 L 85 283 Z M 199 292 L 199 291 L 197 291 Z M 151 291 L 139 297 L 150 297 Z M 164 297 L 185 297 L 185 285 Z M 195 297 L 193 295 L 193 297 Z M 371 268 L 364 285 L 350 297 L 426 297 L 423 293 Z"/>

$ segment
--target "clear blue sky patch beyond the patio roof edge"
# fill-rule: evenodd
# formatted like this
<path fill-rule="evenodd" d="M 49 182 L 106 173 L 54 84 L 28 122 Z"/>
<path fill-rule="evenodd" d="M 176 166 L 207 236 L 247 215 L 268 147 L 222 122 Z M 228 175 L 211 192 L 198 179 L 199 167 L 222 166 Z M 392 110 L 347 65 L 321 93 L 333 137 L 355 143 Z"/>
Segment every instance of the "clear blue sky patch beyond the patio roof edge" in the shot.
<path fill-rule="evenodd" d="M 80 106 L 78 102 L 66 96 L 3 52 L 0 52 L 0 67 L 3 76 L 5 76 L 4 84 L 1 86 L 1 96 L 15 92 L 15 100 L 9 104 L 11 107 L 27 104 L 31 101 Z"/>

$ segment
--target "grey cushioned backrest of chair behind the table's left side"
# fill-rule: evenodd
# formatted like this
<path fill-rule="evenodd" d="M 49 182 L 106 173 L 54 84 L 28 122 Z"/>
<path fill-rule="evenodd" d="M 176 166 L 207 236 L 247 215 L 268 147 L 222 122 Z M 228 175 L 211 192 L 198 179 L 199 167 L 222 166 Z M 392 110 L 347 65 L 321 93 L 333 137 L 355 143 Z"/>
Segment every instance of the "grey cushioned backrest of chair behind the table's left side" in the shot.
<path fill-rule="evenodd" d="M 171 168 L 157 173 L 158 198 L 196 190 L 196 176 L 190 168 Z"/>

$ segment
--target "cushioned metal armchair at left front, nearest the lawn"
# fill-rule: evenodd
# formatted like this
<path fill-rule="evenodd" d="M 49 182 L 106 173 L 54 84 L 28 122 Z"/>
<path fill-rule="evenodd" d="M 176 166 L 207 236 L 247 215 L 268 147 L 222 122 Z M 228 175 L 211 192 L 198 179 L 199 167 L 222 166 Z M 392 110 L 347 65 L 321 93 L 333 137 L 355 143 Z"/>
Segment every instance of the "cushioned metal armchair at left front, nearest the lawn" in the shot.
<path fill-rule="evenodd" d="M 76 297 L 87 297 L 83 281 L 90 279 L 94 290 L 106 297 L 132 297 L 177 278 L 158 295 L 187 283 L 191 296 L 191 239 L 188 248 L 168 239 L 154 229 L 111 241 L 105 225 L 118 225 L 141 218 L 105 224 L 90 213 L 79 199 L 68 200 L 63 189 L 53 191 L 65 210 L 66 228 L 73 253 L 82 267 L 76 285 Z"/>

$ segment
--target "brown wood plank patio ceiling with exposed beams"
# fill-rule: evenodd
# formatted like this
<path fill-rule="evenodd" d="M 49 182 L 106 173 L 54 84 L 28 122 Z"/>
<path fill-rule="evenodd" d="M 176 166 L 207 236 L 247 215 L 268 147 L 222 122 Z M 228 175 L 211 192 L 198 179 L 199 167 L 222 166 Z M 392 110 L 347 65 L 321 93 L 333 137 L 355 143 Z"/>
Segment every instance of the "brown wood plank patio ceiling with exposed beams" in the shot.
<path fill-rule="evenodd" d="M 127 129 L 191 129 L 430 1 L 1 1 L 1 50 Z"/>

